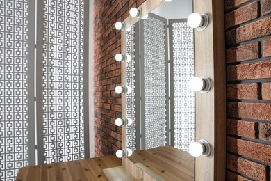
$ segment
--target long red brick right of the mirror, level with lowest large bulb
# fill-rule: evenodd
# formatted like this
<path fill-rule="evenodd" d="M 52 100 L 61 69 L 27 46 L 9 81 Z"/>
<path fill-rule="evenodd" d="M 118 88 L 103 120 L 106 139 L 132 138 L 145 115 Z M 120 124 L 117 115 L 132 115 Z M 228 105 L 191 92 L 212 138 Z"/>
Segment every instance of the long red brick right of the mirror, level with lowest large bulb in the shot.
<path fill-rule="evenodd" d="M 271 145 L 227 137 L 227 151 L 271 163 Z"/>

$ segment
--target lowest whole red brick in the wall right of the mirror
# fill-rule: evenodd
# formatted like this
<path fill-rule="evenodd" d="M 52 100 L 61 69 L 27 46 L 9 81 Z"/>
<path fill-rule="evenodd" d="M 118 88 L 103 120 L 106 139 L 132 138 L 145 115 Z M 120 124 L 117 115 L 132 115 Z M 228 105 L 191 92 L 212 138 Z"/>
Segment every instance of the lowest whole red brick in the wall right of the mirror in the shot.
<path fill-rule="evenodd" d="M 249 178 L 254 178 L 255 180 L 267 180 L 266 167 L 267 166 L 263 164 L 257 164 L 248 159 L 227 154 L 227 168 L 231 171 L 247 175 Z"/>

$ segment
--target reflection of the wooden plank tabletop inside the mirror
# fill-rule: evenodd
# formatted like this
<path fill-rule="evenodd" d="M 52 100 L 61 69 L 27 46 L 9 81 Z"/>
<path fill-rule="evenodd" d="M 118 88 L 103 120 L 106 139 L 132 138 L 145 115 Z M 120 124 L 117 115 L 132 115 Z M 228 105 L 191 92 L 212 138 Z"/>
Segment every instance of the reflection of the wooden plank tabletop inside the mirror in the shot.
<path fill-rule="evenodd" d="M 194 180 L 194 157 L 172 146 L 136 151 L 129 159 L 158 180 Z"/>

